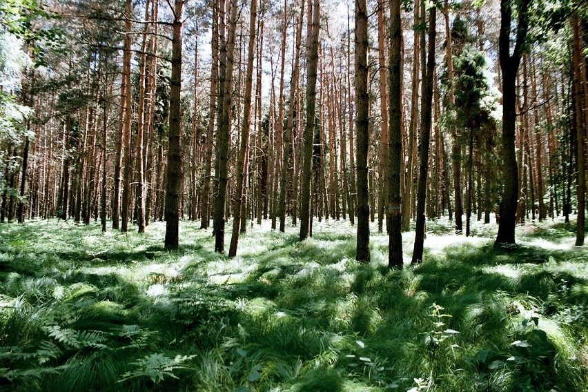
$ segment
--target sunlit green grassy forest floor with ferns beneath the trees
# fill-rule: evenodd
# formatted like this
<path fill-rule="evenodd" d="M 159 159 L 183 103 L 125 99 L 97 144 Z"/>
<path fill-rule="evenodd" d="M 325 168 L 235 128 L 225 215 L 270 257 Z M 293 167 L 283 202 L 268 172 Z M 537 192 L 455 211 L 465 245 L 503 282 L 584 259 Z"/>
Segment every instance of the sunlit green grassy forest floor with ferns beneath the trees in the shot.
<path fill-rule="evenodd" d="M 0 390 L 588 391 L 588 251 L 574 222 L 493 245 L 428 222 L 424 262 L 386 267 L 372 226 L 248 228 L 238 257 L 181 222 L 123 234 L 57 220 L 0 224 Z M 228 233 L 227 238 L 230 238 Z"/>

